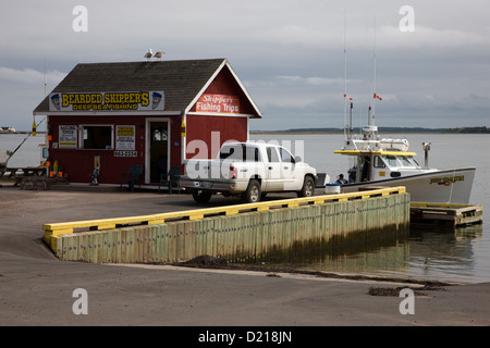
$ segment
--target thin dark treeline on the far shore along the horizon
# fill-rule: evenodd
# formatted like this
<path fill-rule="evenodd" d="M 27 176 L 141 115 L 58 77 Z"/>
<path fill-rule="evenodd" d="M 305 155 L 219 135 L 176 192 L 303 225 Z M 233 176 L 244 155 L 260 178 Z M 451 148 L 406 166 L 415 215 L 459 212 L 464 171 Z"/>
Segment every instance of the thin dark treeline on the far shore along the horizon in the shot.
<path fill-rule="evenodd" d="M 360 133 L 359 127 L 354 127 L 353 133 Z M 292 128 L 287 130 L 250 130 L 252 133 L 343 133 L 343 128 Z M 460 127 L 460 128 L 424 128 L 424 127 L 378 127 L 379 133 L 462 133 L 481 134 L 490 133 L 490 128 L 482 127 Z"/>

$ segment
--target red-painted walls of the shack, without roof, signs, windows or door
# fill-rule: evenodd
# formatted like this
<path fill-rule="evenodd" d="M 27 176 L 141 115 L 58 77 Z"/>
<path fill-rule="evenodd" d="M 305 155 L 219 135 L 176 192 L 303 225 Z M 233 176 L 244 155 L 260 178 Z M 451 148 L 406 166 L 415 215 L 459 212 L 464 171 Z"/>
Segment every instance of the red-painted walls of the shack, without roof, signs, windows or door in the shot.
<path fill-rule="evenodd" d="M 230 113 L 206 113 L 196 112 L 196 105 L 189 110 L 191 114 L 185 115 L 185 135 L 186 153 L 185 159 L 192 158 L 216 158 L 221 145 L 226 140 L 246 141 L 248 138 L 248 117 L 246 114 L 256 114 L 256 110 L 249 102 L 247 96 L 236 83 L 230 70 L 223 69 L 213 82 L 208 86 L 204 95 L 224 95 L 240 99 L 240 111 L 235 114 Z M 132 164 L 142 164 L 145 171 L 148 170 L 148 161 L 145 159 L 148 139 L 147 117 L 154 120 L 170 120 L 170 137 L 168 146 L 170 147 L 169 167 L 174 165 L 182 166 L 182 137 L 181 127 L 182 116 L 173 115 L 127 115 L 121 112 L 119 115 L 49 115 L 48 127 L 52 135 L 49 145 L 49 156 L 51 163 L 58 160 L 63 172 L 69 175 L 71 183 L 90 183 L 95 167 L 95 158 L 100 158 L 100 173 L 98 182 L 100 184 L 120 184 L 121 174 L 126 172 Z M 159 121 L 157 121 L 159 122 Z M 115 147 L 115 127 L 118 125 L 135 126 L 135 149 L 137 157 L 115 157 L 118 149 L 62 149 L 53 147 L 53 142 L 59 142 L 60 125 L 112 125 L 113 140 Z M 81 136 L 78 135 L 78 142 Z M 146 175 L 148 176 L 148 175 Z M 145 173 L 142 176 L 144 183 Z"/>

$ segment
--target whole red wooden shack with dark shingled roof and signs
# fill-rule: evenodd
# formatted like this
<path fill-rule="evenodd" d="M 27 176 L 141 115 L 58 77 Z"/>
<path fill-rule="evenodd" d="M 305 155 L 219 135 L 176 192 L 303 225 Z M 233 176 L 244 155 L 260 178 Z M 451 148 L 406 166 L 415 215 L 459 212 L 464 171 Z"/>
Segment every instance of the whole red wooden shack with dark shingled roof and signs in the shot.
<path fill-rule="evenodd" d="M 34 110 L 46 115 L 51 163 L 71 183 L 120 185 L 132 164 L 142 186 L 191 158 L 248 140 L 261 113 L 225 59 L 77 64 Z"/>

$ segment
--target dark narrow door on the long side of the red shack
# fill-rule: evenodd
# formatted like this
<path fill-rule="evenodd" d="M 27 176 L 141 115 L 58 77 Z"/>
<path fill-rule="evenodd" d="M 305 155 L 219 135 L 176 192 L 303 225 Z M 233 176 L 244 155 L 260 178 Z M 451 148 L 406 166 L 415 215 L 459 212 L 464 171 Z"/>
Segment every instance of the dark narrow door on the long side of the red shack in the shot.
<path fill-rule="evenodd" d="M 160 174 L 169 172 L 169 122 L 150 122 L 149 129 L 150 183 L 158 184 L 160 182 Z"/>

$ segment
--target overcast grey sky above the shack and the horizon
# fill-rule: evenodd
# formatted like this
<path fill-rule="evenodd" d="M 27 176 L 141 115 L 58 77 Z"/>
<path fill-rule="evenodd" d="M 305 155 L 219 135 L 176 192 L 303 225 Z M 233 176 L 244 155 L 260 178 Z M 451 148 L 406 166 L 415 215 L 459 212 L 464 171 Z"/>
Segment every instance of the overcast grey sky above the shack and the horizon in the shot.
<path fill-rule="evenodd" d="M 88 32 L 73 29 L 76 5 Z M 378 126 L 490 126 L 489 13 L 488 0 L 0 0 L 0 126 L 30 128 L 45 76 L 49 92 L 79 62 L 143 61 L 152 48 L 226 58 L 262 112 L 253 130 L 342 127 L 345 14 L 355 126 L 375 47 Z"/>

